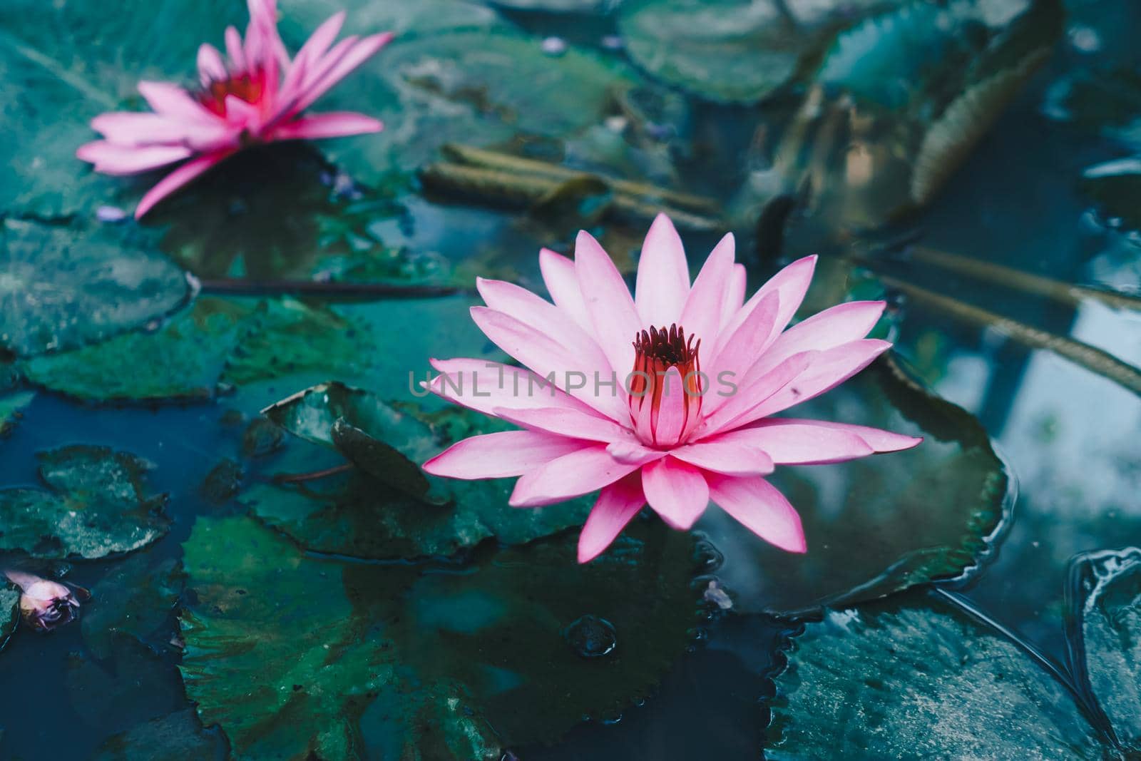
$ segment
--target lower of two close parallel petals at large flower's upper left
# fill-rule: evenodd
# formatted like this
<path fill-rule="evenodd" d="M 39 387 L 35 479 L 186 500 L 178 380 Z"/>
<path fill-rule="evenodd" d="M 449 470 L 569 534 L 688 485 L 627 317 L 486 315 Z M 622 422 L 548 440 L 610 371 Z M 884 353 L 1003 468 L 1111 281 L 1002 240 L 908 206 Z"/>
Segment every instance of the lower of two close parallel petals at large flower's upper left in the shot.
<path fill-rule="evenodd" d="M 593 364 L 593 357 L 574 356 L 547 333 L 495 309 L 472 307 L 471 319 L 495 346 L 541 377 L 551 378 L 570 396 L 613 420 L 621 421 L 623 415 L 629 416 L 625 398 L 621 394 L 623 379 L 600 371 Z M 610 381 L 616 383 L 613 394 L 608 389 L 594 392 L 597 382 Z"/>

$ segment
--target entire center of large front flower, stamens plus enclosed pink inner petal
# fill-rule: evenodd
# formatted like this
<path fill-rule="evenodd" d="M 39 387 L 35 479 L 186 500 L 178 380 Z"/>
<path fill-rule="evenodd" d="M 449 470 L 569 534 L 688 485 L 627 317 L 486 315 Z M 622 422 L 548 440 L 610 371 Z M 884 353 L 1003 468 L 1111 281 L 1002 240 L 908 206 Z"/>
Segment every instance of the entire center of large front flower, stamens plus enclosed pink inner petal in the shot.
<path fill-rule="evenodd" d="M 696 335 L 687 340 L 677 324 L 634 335 L 630 418 L 644 444 L 675 446 L 696 427 L 705 386 L 697 358 L 701 345 Z"/>

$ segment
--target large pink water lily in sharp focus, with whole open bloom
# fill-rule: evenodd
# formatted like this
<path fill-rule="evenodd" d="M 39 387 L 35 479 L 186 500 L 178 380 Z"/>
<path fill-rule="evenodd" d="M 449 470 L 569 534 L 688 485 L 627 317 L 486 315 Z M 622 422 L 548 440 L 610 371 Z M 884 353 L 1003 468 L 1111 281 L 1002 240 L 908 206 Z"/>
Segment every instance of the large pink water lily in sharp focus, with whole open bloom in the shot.
<path fill-rule="evenodd" d="M 841 462 L 921 440 L 772 416 L 891 346 L 864 338 L 882 301 L 841 303 L 784 330 L 816 257 L 788 265 L 746 302 L 733 235 L 690 284 L 681 240 L 659 214 L 642 245 L 634 298 L 585 232 L 573 261 L 544 249 L 539 262 L 553 303 L 479 280 L 487 306 L 471 309 L 487 338 L 525 369 L 434 359 L 440 374 L 427 384 L 523 430 L 474 436 L 423 467 L 451 478 L 519 476 L 510 504 L 520 508 L 601 489 L 578 539 L 580 562 L 605 550 L 647 502 L 666 524 L 688 529 L 712 501 L 761 539 L 804 552 L 800 516 L 764 479 L 775 465 Z"/>

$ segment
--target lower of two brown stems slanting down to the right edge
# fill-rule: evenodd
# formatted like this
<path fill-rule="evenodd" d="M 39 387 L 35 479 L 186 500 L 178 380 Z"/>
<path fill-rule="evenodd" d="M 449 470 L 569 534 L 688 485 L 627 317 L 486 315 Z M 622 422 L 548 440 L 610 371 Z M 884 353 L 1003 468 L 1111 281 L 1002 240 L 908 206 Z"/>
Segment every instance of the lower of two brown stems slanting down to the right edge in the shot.
<path fill-rule="evenodd" d="M 1026 323 L 1020 323 L 1011 317 L 1005 317 L 981 307 L 960 301 L 953 297 L 912 285 L 898 277 L 889 275 L 880 275 L 879 277 L 888 288 L 905 293 L 924 306 L 945 311 L 953 317 L 979 325 L 980 327 L 994 327 L 1031 349 L 1053 351 L 1058 356 L 1085 367 L 1090 372 L 1098 373 L 1134 394 L 1141 395 L 1141 370 L 1122 362 L 1103 349 L 1065 335 L 1033 327 Z"/>

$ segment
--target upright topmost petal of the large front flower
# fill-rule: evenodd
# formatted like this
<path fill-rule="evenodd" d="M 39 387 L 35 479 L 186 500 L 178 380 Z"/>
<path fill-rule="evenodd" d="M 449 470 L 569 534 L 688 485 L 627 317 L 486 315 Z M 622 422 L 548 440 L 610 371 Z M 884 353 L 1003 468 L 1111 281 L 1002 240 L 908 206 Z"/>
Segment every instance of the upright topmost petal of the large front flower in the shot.
<path fill-rule="evenodd" d="M 681 318 L 689 296 L 689 265 L 681 237 L 664 213 L 654 218 L 646 233 L 634 292 L 642 325 L 669 327 Z"/>

